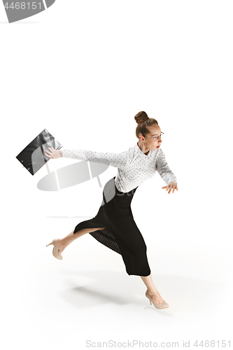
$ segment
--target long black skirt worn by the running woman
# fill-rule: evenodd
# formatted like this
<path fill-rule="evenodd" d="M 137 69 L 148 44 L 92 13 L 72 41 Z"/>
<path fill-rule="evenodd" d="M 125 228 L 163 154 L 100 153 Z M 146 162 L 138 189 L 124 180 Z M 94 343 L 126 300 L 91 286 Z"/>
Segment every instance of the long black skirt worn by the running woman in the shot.
<path fill-rule="evenodd" d="M 94 218 L 76 225 L 73 234 L 83 228 L 104 228 L 90 232 L 97 241 L 122 255 L 127 274 L 148 276 L 150 267 L 146 243 L 137 227 L 130 204 L 138 187 L 124 193 L 115 186 L 115 176 L 103 190 L 103 200 Z"/>

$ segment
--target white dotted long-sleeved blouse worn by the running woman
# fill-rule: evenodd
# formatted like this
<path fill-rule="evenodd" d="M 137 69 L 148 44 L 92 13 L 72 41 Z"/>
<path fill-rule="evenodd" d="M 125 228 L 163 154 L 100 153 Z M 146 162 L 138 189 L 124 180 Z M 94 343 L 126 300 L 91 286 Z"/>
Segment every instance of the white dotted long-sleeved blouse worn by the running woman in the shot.
<path fill-rule="evenodd" d="M 133 190 L 141 185 L 143 181 L 154 176 L 156 171 L 167 185 L 171 181 L 177 182 L 176 176 L 169 169 L 161 148 L 156 151 L 150 150 L 148 155 L 141 151 L 138 144 L 122 153 L 102 153 L 85 151 L 83 149 L 64 149 L 61 151 L 63 158 L 89 160 L 90 162 L 104 163 L 117 167 L 118 173 L 115 176 L 115 186 L 120 192 L 127 193 Z"/>

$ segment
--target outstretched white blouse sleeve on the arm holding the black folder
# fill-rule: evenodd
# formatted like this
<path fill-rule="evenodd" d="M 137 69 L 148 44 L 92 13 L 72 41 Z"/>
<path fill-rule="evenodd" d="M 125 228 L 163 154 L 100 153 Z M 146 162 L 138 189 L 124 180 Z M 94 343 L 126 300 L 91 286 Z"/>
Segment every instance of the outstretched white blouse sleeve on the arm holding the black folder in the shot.
<path fill-rule="evenodd" d="M 95 151 L 87 151 L 82 149 L 77 150 L 62 150 L 62 158 L 74 158 L 78 160 L 89 160 L 90 162 L 103 163 L 112 167 L 122 168 L 127 165 L 128 152 L 122 153 L 103 153 Z"/>

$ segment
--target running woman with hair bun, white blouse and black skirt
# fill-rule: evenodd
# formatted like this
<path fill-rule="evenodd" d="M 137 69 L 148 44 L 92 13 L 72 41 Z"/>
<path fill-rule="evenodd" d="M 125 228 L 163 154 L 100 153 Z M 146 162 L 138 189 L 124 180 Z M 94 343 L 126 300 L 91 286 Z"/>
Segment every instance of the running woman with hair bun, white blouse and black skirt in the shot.
<path fill-rule="evenodd" d="M 134 222 L 131 202 L 136 189 L 143 181 L 155 175 L 157 171 L 167 186 L 162 187 L 170 194 L 178 190 L 176 176 L 167 165 L 160 146 L 162 132 L 157 120 L 148 118 L 146 112 L 139 112 L 134 117 L 136 123 L 137 144 L 122 153 L 98 153 L 85 150 L 55 150 L 45 151 L 48 158 L 75 158 L 89 160 L 118 167 L 118 173 L 104 186 L 103 201 L 97 215 L 78 223 L 69 235 L 62 239 L 53 239 L 52 253 L 62 260 L 62 251 L 72 241 L 90 233 L 101 244 L 122 255 L 127 274 L 141 276 L 146 284 L 146 297 L 157 309 L 165 309 L 165 302 L 157 291 L 150 274 L 146 255 L 146 244 Z M 48 244 L 48 246 L 50 245 Z"/>

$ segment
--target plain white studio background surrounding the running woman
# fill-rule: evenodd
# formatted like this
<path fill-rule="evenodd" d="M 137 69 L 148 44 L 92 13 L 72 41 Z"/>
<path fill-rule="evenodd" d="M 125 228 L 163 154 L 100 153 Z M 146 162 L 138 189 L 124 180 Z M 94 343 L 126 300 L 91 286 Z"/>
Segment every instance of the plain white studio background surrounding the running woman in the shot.
<path fill-rule="evenodd" d="M 0 6 L 3 349 L 232 340 L 232 10 L 232 1 L 57 0 L 8 24 Z M 117 169 L 100 176 L 102 188 L 92 179 L 52 193 L 37 188 L 46 167 L 31 176 L 15 158 L 44 128 L 64 148 L 126 151 L 139 111 L 158 121 L 178 180 L 169 195 L 155 174 L 132 201 L 170 304 L 161 311 L 121 255 L 90 235 L 62 261 L 46 247 L 97 214 Z"/>

